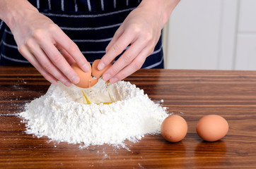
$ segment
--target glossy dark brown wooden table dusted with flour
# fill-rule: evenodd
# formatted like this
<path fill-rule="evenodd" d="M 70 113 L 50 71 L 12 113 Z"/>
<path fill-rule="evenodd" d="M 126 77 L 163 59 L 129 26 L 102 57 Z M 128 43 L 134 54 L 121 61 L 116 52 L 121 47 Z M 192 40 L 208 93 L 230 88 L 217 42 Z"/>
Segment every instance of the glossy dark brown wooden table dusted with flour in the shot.
<path fill-rule="evenodd" d="M 126 79 L 170 113 L 187 120 L 182 142 L 161 135 L 125 142 L 127 149 L 49 142 L 25 134 L 13 113 L 47 92 L 50 83 L 34 68 L 0 67 L 0 168 L 256 168 L 256 72 L 218 70 L 139 70 Z M 222 115 L 226 137 L 203 142 L 197 120 Z"/>

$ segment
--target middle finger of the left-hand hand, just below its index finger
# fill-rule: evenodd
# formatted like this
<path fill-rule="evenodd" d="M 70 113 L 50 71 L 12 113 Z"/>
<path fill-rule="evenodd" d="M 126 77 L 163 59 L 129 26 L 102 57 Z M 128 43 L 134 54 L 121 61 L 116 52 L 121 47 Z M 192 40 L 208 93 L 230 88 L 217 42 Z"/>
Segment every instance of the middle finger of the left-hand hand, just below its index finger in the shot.
<path fill-rule="evenodd" d="M 50 62 L 47 64 L 47 66 L 52 68 L 52 65 L 54 65 L 54 67 L 56 66 L 57 69 L 59 69 L 60 72 L 63 73 L 69 81 L 73 82 L 74 84 L 79 82 L 80 79 L 77 73 L 71 68 L 71 65 L 69 65 L 64 56 L 62 56 L 62 54 L 50 41 L 42 43 L 41 47 L 47 58 L 50 59 Z M 43 62 L 45 63 L 45 61 Z M 49 65 L 50 63 L 52 63 L 52 65 Z"/>

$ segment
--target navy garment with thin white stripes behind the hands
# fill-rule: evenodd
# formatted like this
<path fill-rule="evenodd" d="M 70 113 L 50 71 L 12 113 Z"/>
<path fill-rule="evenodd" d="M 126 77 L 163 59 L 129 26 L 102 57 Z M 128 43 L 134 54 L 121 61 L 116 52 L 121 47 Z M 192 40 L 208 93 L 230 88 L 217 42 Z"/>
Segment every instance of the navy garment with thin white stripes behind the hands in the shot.
<path fill-rule="evenodd" d="M 59 25 L 92 63 L 105 54 L 115 31 L 140 0 L 30 0 L 30 3 Z M 0 65 L 30 65 L 18 53 L 11 30 L 1 20 L 0 39 Z M 142 68 L 163 68 L 161 38 Z"/>

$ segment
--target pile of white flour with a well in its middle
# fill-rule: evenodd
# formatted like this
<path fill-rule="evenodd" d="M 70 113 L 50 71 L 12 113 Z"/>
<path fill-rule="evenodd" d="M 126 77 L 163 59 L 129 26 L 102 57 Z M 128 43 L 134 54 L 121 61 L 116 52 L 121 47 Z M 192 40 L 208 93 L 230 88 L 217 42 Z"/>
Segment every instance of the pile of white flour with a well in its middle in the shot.
<path fill-rule="evenodd" d="M 81 90 L 75 85 L 52 84 L 44 96 L 31 101 L 20 113 L 26 132 L 85 146 L 118 145 L 126 139 L 136 141 L 144 134 L 160 133 L 161 123 L 168 116 L 166 108 L 129 82 L 108 84 L 107 89 L 99 80 L 94 87 L 83 89 L 92 104 L 83 104 Z M 95 104 L 112 99 L 112 104 Z"/>

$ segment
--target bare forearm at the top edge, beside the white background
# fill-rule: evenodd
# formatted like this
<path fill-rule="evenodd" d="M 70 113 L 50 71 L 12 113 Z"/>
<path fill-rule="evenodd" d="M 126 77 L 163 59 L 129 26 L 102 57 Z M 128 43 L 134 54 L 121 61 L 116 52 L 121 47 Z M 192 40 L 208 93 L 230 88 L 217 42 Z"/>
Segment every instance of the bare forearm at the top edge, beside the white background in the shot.
<path fill-rule="evenodd" d="M 158 15 L 162 26 L 164 26 L 179 1 L 180 0 L 143 0 L 138 8 L 147 8 L 151 13 Z"/>

